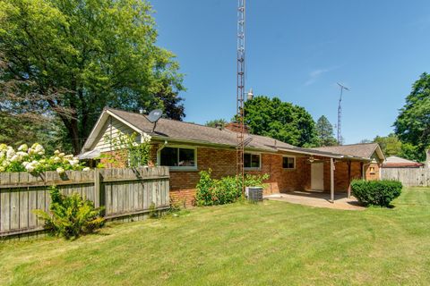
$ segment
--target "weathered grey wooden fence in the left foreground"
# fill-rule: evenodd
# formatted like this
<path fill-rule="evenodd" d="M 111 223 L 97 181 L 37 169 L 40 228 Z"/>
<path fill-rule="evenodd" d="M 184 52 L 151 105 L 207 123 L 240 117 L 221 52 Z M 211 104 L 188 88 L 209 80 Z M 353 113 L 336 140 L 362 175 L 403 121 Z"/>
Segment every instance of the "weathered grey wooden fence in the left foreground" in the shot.
<path fill-rule="evenodd" d="M 49 187 L 56 185 L 64 195 L 73 192 L 105 206 L 105 218 L 143 215 L 167 209 L 168 167 L 100 169 L 89 172 L 0 173 L 0 237 L 43 230 L 32 210 L 49 209 Z"/>

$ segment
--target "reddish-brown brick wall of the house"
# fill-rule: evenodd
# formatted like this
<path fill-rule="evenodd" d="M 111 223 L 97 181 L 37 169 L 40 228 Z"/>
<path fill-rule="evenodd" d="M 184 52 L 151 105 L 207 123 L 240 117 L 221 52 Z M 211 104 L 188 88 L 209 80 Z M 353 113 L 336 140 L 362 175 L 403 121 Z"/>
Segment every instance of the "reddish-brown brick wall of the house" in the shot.
<path fill-rule="evenodd" d="M 161 144 L 153 144 L 151 148 L 150 156 L 154 163 L 157 162 L 159 147 Z M 121 158 L 117 159 L 116 167 L 125 165 Z M 330 160 L 320 159 L 324 162 L 324 189 L 330 191 Z M 236 175 L 236 150 L 197 147 L 197 166 L 197 170 L 193 171 L 170 170 L 170 198 L 174 203 L 180 206 L 194 205 L 195 186 L 200 178 L 199 172 L 202 170 L 211 169 L 212 177 L 215 179 Z M 335 167 L 335 190 L 345 191 L 348 189 L 348 164 L 337 162 Z M 375 168 L 375 171 L 379 172 L 379 168 Z M 377 172 L 373 175 L 379 176 Z M 288 170 L 282 168 L 282 154 L 262 154 L 262 170 L 246 173 L 270 175 L 265 181 L 267 187 L 264 189 L 264 194 L 311 189 L 311 164 L 306 157 L 297 156 L 296 169 Z M 351 162 L 351 179 L 354 178 L 361 178 L 359 162 Z"/>

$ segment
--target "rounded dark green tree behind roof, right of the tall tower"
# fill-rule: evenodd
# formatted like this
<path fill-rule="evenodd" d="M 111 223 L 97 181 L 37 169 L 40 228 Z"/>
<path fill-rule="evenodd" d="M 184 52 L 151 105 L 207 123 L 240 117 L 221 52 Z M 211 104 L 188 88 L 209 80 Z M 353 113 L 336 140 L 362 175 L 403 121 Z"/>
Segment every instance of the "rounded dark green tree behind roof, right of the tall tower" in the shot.
<path fill-rule="evenodd" d="M 318 143 L 311 114 L 278 97 L 260 96 L 246 101 L 245 124 L 254 134 L 280 139 L 297 147 L 312 147 Z"/>

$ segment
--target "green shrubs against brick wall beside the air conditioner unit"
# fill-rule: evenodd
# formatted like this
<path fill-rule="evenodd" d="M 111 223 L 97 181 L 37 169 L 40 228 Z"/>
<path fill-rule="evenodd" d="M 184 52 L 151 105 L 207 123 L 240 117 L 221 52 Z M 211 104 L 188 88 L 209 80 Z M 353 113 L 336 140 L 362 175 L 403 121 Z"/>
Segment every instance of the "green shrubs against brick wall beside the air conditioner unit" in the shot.
<path fill-rule="evenodd" d="M 245 186 L 262 186 L 268 174 L 245 175 Z M 197 206 L 217 206 L 236 202 L 242 198 L 242 181 L 236 177 L 223 177 L 219 180 L 211 178 L 211 169 L 200 172 L 200 181 L 196 186 Z"/>

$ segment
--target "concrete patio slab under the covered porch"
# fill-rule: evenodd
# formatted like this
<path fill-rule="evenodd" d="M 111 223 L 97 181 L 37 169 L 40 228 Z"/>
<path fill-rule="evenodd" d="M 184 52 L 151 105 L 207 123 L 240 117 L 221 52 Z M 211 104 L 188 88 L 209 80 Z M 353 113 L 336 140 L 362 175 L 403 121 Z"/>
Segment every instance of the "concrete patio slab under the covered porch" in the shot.
<path fill-rule="evenodd" d="M 343 210 L 364 210 L 366 207 L 360 206 L 357 198 L 347 198 L 346 193 L 334 195 L 334 203 L 330 202 L 330 193 L 319 191 L 291 191 L 288 193 L 271 194 L 264 196 L 265 199 L 279 200 L 291 204 L 327 207 Z"/>

